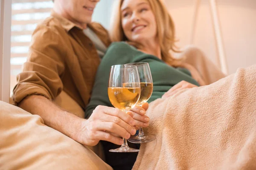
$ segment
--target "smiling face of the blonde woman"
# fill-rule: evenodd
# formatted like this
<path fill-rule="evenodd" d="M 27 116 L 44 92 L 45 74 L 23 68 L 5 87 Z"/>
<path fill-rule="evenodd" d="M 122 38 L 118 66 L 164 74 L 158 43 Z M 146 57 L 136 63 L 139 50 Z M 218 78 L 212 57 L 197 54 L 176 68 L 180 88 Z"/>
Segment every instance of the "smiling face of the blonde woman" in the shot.
<path fill-rule="evenodd" d="M 148 0 L 124 0 L 121 6 L 122 28 L 128 40 L 155 40 L 157 24 Z"/>

